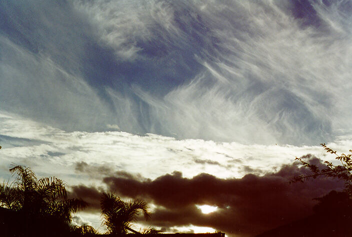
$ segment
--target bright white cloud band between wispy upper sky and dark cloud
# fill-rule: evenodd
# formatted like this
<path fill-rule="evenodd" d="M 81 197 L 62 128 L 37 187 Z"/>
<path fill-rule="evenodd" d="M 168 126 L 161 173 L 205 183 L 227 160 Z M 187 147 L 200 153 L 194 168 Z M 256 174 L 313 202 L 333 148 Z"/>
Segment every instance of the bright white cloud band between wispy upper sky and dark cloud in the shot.
<path fill-rule="evenodd" d="M 140 174 L 154 179 L 180 171 L 184 177 L 208 173 L 220 178 L 262 175 L 295 157 L 311 153 L 325 156 L 319 146 L 243 145 L 236 142 L 176 140 L 155 134 L 137 136 L 125 132 L 64 132 L 13 115 L 0 114 L 1 176 L 11 163 L 30 166 L 41 176 L 57 176 L 74 185 L 98 182 L 106 173 L 77 173 L 76 164 Z M 28 142 L 31 141 L 31 142 Z M 348 152 L 348 137 L 328 144 Z M 333 159 L 332 156 L 326 159 Z"/>

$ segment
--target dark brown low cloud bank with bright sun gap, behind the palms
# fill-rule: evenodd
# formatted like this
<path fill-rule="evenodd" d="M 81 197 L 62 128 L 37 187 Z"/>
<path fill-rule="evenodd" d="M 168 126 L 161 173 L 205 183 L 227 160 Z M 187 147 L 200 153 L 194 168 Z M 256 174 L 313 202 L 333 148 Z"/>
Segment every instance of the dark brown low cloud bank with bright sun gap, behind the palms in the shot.
<path fill-rule="evenodd" d="M 312 155 L 303 159 L 323 166 L 321 160 Z M 147 225 L 165 229 L 194 225 L 212 227 L 227 235 L 252 236 L 311 214 L 316 203 L 313 198 L 343 187 L 342 183 L 331 179 L 288 183 L 293 176 L 301 174 L 309 174 L 309 171 L 295 162 L 283 165 L 275 173 L 248 174 L 240 179 L 220 179 L 204 173 L 185 178 L 174 171 L 154 180 L 121 173 L 105 177 L 103 182 L 121 197 L 155 204 Z M 73 193 L 95 202 L 93 207 L 98 207 L 96 188 L 76 186 Z M 218 209 L 205 215 L 195 205 L 217 206 Z"/>

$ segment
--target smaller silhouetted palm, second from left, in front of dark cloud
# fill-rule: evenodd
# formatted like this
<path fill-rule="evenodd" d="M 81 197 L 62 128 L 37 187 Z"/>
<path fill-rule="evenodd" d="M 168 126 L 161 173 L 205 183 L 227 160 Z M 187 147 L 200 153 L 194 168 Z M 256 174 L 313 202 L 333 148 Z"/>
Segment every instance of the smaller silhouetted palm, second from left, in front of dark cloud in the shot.
<path fill-rule="evenodd" d="M 100 199 L 101 217 L 107 228 L 107 233 L 112 235 L 126 234 L 127 231 L 137 234 L 131 229 L 132 222 L 136 221 L 139 212 L 144 219 L 150 218 L 147 203 L 140 200 L 122 201 L 115 194 L 103 193 Z"/>

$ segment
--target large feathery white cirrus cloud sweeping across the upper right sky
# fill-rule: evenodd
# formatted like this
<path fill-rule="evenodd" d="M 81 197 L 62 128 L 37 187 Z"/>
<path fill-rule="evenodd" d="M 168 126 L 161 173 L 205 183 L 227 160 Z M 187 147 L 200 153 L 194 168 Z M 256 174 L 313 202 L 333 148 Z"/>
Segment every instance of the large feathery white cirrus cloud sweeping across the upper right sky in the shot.
<path fill-rule="evenodd" d="M 215 55 L 204 51 L 199 56 L 204 72 L 164 97 L 172 110 L 154 107 L 165 118 L 162 124 L 180 136 L 203 139 L 265 144 L 330 139 L 334 126 L 340 126 L 335 114 L 349 113 L 333 92 L 343 90 L 342 84 L 329 79 L 349 84 L 339 69 L 349 74 L 349 59 L 341 51 L 349 50 L 349 32 L 302 28 L 273 2 L 198 7 L 202 10 L 196 13 L 206 17 L 218 39 Z M 335 109 L 332 101 L 344 109 Z"/>

